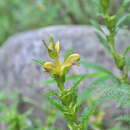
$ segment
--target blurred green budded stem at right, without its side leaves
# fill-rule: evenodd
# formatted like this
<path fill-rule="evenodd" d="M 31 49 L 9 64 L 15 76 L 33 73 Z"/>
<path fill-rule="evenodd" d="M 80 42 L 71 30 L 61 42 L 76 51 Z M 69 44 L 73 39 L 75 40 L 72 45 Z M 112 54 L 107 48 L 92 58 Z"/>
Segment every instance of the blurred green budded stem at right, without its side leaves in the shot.
<path fill-rule="evenodd" d="M 119 78 L 121 83 L 129 83 L 128 81 L 128 72 L 126 72 L 125 70 L 125 66 L 126 66 L 126 59 L 125 56 L 122 54 L 119 54 L 117 52 L 117 48 L 115 45 L 115 37 L 116 37 L 116 17 L 110 16 L 109 12 L 107 12 L 106 17 L 104 17 L 105 20 L 105 24 L 109 30 L 109 34 L 106 36 L 107 40 L 108 40 L 108 44 L 110 44 L 111 48 L 112 48 L 112 57 L 115 61 L 115 64 L 117 66 L 117 68 L 120 70 L 121 72 L 121 77 Z"/>

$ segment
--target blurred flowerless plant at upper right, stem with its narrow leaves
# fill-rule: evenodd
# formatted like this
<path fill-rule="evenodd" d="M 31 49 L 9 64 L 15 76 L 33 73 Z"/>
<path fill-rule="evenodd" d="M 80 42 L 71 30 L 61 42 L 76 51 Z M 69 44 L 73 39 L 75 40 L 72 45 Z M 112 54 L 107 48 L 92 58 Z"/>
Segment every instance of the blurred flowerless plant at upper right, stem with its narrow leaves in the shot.
<path fill-rule="evenodd" d="M 121 7 L 126 5 L 129 1 L 124 1 L 121 3 Z M 109 4 L 108 4 L 109 3 Z M 124 4 L 125 3 L 125 4 Z M 123 53 L 118 53 L 116 48 L 116 34 L 118 32 L 118 28 L 125 21 L 125 19 L 129 16 L 129 14 L 120 17 L 119 10 L 116 10 L 115 14 L 111 14 L 111 4 L 110 0 L 100 0 L 98 3 L 98 9 L 100 10 L 100 15 L 104 21 L 104 24 L 108 30 L 108 33 L 105 33 L 103 29 L 96 22 L 92 22 L 92 24 L 96 27 L 98 32 L 96 32 L 100 43 L 108 50 L 108 52 L 113 57 L 116 67 L 121 71 L 122 75 L 117 77 L 117 79 L 122 83 L 128 83 L 128 70 L 126 70 L 127 66 L 127 58 L 126 55 L 129 52 L 129 47 Z"/>

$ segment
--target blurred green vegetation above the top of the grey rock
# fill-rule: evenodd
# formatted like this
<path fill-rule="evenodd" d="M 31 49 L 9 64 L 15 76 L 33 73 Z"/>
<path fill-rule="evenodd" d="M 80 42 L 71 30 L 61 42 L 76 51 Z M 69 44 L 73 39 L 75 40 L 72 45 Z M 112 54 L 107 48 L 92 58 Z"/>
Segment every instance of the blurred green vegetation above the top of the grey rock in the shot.
<path fill-rule="evenodd" d="M 121 2 L 112 1 L 113 12 Z M 121 13 L 129 10 L 122 8 Z M 97 16 L 95 0 L 0 0 L 0 45 L 13 34 L 40 27 L 91 24 L 91 20 L 103 24 Z"/>

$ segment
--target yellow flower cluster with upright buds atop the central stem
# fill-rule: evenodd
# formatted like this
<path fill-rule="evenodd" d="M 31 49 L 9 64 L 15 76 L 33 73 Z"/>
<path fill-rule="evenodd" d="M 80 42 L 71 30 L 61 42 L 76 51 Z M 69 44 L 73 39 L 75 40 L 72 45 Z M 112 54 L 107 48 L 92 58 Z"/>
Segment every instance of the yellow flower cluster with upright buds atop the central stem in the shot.
<path fill-rule="evenodd" d="M 46 72 L 51 74 L 56 74 L 58 76 L 65 75 L 69 68 L 72 65 L 79 65 L 80 55 L 79 54 L 71 54 L 66 58 L 66 60 L 62 63 L 60 61 L 60 42 L 56 42 L 54 44 L 53 39 L 50 39 L 50 45 L 47 46 L 47 44 L 44 42 L 46 48 L 48 49 L 49 56 L 54 59 L 54 62 L 45 62 L 43 65 L 43 68 Z"/>

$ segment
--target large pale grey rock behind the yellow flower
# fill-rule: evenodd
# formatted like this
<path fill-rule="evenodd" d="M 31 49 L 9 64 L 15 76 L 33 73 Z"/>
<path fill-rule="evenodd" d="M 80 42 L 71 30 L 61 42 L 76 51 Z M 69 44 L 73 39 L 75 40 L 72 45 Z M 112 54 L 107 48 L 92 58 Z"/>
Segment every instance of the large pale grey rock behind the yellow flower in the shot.
<path fill-rule="evenodd" d="M 81 54 L 81 59 L 93 61 L 117 72 L 111 57 L 99 43 L 95 31 L 91 26 L 51 26 L 10 37 L 0 49 L 0 88 L 9 88 L 11 91 L 19 91 L 41 100 L 40 93 L 50 87 L 40 85 L 40 82 L 46 81 L 48 75 L 44 74 L 32 59 L 49 60 L 47 50 L 41 42 L 43 39 L 48 41 L 48 36 L 53 36 L 55 41 L 60 40 L 62 52 L 73 47 L 75 52 Z M 123 51 L 130 41 L 130 37 L 124 36 L 125 33 L 130 34 L 127 30 L 121 30 L 117 35 L 120 51 Z M 75 68 L 73 70 L 72 73 L 75 73 Z M 76 68 L 76 73 L 79 72 L 90 71 L 83 67 Z"/>

